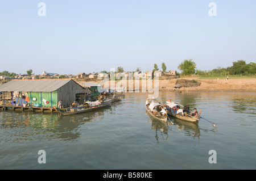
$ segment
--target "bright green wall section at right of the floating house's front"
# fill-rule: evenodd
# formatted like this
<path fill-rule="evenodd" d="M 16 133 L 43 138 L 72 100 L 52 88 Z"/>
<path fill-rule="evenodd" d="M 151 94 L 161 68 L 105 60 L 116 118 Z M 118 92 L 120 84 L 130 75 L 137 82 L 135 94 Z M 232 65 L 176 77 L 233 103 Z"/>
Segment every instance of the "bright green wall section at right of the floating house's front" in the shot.
<path fill-rule="evenodd" d="M 30 97 L 30 92 L 27 92 Z M 36 98 L 36 100 L 33 100 Z M 41 92 L 31 92 L 32 104 L 40 104 L 41 105 Z M 57 106 L 57 91 L 52 92 L 52 104 L 51 104 L 51 92 L 42 92 L 42 99 L 45 99 L 49 102 L 49 104 L 44 104 L 42 102 L 42 106 Z"/>

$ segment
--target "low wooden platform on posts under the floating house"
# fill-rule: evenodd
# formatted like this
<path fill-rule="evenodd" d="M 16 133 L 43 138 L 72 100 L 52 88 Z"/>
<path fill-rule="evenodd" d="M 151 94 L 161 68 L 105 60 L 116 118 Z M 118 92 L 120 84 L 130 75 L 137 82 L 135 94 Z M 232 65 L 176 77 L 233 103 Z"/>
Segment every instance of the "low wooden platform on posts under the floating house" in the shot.
<path fill-rule="evenodd" d="M 0 105 L 1 110 L 21 110 L 21 111 L 50 111 L 53 112 L 55 111 L 53 107 L 24 107 L 24 106 L 16 106 L 13 104 L 2 104 Z"/>

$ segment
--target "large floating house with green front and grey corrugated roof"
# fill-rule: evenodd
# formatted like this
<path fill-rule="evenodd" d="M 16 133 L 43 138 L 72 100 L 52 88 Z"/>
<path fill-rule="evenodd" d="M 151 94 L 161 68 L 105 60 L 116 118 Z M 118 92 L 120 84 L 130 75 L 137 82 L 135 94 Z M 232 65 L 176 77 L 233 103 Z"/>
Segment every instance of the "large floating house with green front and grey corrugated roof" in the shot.
<path fill-rule="evenodd" d="M 90 89 L 80 86 L 72 79 L 13 80 L 0 86 L 2 107 L 11 106 L 48 107 L 71 105 L 79 95 L 89 94 Z M 26 104 L 24 104 L 26 103 Z"/>

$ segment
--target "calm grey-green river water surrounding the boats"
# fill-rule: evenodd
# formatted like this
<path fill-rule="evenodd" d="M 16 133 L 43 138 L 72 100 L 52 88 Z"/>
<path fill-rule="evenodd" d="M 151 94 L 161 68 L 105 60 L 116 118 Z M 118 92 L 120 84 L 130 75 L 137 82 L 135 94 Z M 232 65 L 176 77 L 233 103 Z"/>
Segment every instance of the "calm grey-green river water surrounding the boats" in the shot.
<path fill-rule="evenodd" d="M 0 169 L 256 169 L 256 93 L 159 92 L 158 102 L 196 107 L 217 128 L 153 120 L 146 98 L 126 93 L 110 108 L 73 116 L 1 110 Z"/>

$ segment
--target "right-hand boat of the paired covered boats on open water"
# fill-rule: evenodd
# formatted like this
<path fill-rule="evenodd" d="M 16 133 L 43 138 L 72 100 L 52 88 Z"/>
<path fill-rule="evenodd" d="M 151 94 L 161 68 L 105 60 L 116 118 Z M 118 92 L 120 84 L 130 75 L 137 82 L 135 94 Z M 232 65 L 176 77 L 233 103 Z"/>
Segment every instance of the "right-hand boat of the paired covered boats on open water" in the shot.
<path fill-rule="evenodd" d="M 177 111 L 177 107 L 179 107 L 179 110 Z M 191 116 L 189 112 L 184 111 L 184 106 L 171 102 L 166 104 L 166 110 L 167 114 L 170 116 L 177 117 L 181 120 L 188 121 L 191 123 L 199 123 L 200 121 L 200 115 L 201 115 L 201 110 L 199 115 L 197 116 Z"/>

